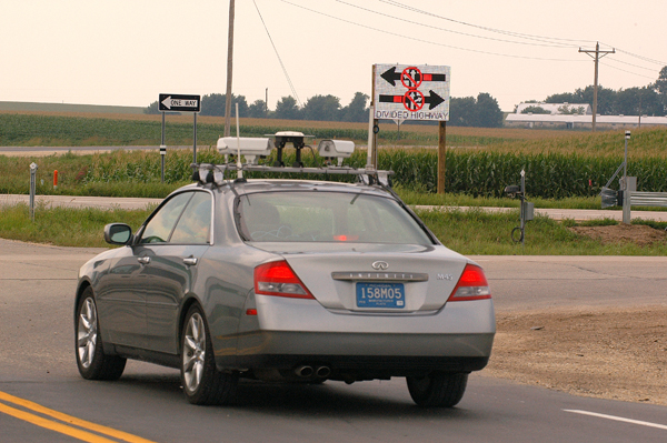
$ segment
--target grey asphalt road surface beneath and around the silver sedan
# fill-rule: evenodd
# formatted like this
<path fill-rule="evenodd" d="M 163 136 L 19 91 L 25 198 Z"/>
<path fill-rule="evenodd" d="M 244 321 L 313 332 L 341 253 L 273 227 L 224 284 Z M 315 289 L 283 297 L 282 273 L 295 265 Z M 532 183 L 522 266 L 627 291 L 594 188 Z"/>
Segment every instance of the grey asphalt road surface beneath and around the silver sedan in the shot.
<path fill-rule="evenodd" d="M 243 383 L 226 407 L 190 405 L 177 371 L 140 362 L 118 382 L 84 381 L 72 295 L 79 266 L 98 251 L 0 240 L 0 442 L 667 441 L 665 406 L 577 397 L 484 371 L 451 410 L 416 407 L 400 379 Z M 498 311 L 666 303 L 667 258 L 475 259 Z"/>

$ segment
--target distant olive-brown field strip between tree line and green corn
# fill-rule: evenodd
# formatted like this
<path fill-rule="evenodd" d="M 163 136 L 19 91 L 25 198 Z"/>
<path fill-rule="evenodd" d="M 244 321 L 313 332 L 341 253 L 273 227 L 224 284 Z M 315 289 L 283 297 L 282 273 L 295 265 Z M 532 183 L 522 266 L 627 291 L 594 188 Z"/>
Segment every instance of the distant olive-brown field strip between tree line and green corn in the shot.
<path fill-rule="evenodd" d="M 191 145 L 191 114 L 167 115 L 167 143 Z M 225 118 L 198 117 L 198 144 L 212 145 L 223 133 Z M 240 119 L 241 135 L 263 135 L 283 130 L 301 131 L 321 138 L 347 138 L 367 142 L 368 123 Z M 232 133 L 236 125 L 232 124 Z M 0 145 L 158 145 L 161 115 L 129 113 L 0 111 Z M 528 129 L 447 129 L 451 147 L 487 147 L 506 141 L 568 138 L 567 131 Z M 437 125 L 380 123 L 381 145 L 436 147 Z"/>

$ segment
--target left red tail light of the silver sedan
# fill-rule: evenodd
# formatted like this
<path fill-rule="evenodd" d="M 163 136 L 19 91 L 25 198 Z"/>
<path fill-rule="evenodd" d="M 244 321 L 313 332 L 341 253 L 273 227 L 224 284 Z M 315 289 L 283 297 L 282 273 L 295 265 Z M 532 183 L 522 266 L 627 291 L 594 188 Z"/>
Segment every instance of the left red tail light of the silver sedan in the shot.
<path fill-rule="evenodd" d="M 285 260 L 255 268 L 255 293 L 292 299 L 315 299 Z"/>

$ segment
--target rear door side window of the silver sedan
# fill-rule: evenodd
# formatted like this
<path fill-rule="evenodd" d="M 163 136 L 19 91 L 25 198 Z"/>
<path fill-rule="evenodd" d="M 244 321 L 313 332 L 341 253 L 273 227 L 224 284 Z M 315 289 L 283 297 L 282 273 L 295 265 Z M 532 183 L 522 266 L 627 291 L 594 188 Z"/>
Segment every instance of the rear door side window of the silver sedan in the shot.
<path fill-rule="evenodd" d="M 211 195 L 208 192 L 195 192 L 169 242 L 206 244 L 209 242 L 210 229 Z"/>

